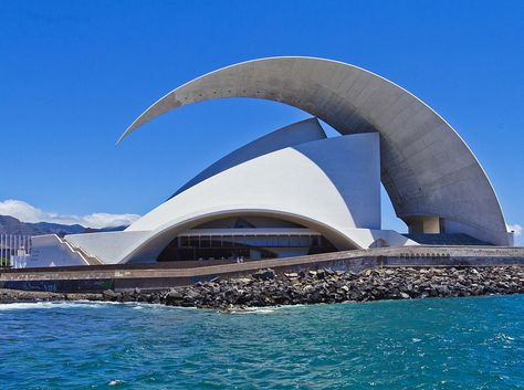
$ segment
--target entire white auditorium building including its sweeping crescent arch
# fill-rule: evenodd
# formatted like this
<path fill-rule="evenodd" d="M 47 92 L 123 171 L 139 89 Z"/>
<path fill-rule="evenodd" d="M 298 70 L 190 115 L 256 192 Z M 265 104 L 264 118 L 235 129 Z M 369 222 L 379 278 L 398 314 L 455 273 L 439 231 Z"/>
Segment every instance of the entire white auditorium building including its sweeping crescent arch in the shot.
<path fill-rule="evenodd" d="M 119 141 L 168 110 L 223 97 L 313 117 L 223 157 L 125 231 L 34 236 L 28 266 L 512 244 L 490 180 L 451 126 L 400 86 L 345 63 L 273 57 L 218 70 L 159 99 Z M 340 136 L 327 138 L 316 118 Z M 381 229 L 380 182 L 409 234 Z"/>

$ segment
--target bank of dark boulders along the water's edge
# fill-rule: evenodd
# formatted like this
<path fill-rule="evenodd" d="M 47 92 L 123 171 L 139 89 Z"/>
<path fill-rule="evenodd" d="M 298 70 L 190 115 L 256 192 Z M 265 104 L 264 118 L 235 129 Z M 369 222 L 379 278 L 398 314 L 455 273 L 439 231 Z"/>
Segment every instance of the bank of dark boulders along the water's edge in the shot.
<path fill-rule="evenodd" d="M 385 267 L 359 274 L 316 270 L 277 275 L 261 270 L 250 276 L 214 278 L 169 291 L 106 291 L 57 294 L 0 291 L 0 303 L 34 301 L 144 302 L 227 310 L 253 306 L 524 293 L 524 266 Z"/>

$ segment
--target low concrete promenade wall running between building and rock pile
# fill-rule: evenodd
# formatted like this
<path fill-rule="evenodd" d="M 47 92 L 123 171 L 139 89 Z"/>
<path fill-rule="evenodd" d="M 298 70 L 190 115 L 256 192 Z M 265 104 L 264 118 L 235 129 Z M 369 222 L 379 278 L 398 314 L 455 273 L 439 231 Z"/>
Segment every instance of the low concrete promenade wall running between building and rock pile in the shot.
<path fill-rule="evenodd" d="M 202 261 L 8 270 L 0 272 L 0 287 L 63 293 L 125 291 L 135 287 L 154 291 L 210 281 L 216 277 L 248 275 L 261 268 L 273 268 L 276 273 L 284 273 L 315 268 L 360 272 L 377 266 L 524 265 L 524 247 L 404 246 L 333 252 L 241 264 L 217 263 L 219 264 L 211 265 Z"/>

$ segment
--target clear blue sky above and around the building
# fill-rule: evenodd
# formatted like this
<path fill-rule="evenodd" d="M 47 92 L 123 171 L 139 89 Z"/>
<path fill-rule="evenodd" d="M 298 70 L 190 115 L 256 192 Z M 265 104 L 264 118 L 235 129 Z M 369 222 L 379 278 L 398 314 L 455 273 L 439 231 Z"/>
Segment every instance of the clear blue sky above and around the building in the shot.
<path fill-rule="evenodd" d="M 348 62 L 439 112 L 524 224 L 524 1 L 0 2 L 0 201 L 57 215 L 143 214 L 232 149 L 307 114 L 224 99 L 129 136 L 157 98 L 274 55 Z M 398 228 L 385 203 L 385 226 Z"/>

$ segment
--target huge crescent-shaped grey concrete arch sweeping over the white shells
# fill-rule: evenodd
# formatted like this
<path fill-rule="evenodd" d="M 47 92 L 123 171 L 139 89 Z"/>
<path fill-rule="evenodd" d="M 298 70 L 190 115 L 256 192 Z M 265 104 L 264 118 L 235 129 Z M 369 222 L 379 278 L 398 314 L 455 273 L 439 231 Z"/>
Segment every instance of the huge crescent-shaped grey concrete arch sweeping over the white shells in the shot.
<path fill-rule="evenodd" d="M 301 108 L 340 131 L 380 134 L 381 181 L 407 223 L 438 217 L 444 226 L 499 245 L 509 236 L 496 194 L 465 143 L 419 98 L 371 72 L 314 57 L 231 65 L 174 89 L 123 134 L 191 103 L 253 97 Z M 448 229 L 448 228 L 447 228 Z"/>

